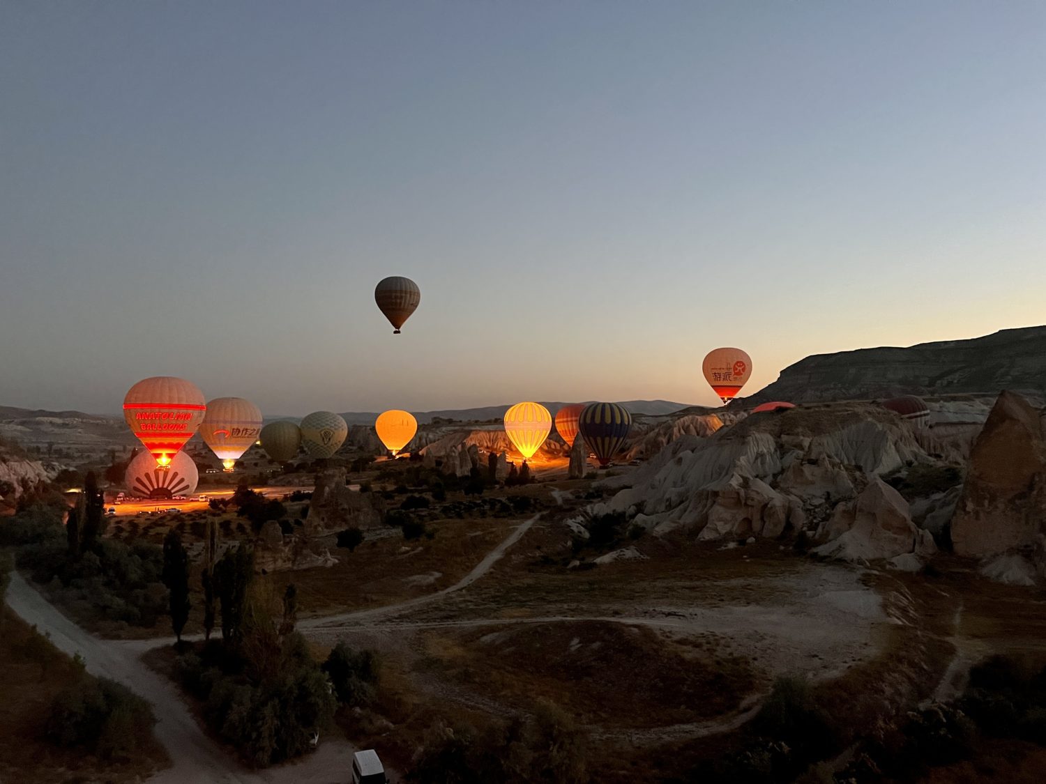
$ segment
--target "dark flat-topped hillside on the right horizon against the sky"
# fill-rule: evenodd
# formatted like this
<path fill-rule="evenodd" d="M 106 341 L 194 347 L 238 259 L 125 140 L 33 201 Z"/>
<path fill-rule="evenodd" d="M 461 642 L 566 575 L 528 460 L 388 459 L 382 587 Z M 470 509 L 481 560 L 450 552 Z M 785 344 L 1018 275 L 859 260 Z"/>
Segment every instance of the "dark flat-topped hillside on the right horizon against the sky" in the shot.
<path fill-rule="evenodd" d="M 901 394 L 991 394 L 1003 389 L 1046 395 L 1046 326 L 1003 329 L 972 340 L 908 348 L 815 354 L 745 402 L 868 400 Z"/>

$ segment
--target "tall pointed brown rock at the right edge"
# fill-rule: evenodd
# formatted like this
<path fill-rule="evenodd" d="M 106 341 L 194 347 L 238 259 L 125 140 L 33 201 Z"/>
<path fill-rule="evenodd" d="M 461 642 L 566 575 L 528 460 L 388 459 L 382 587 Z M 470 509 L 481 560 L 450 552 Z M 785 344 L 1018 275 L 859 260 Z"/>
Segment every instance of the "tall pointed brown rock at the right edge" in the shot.
<path fill-rule="evenodd" d="M 974 443 L 952 517 L 959 555 L 1033 547 L 1046 524 L 1046 439 L 1039 412 L 1013 392 L 996 400 Z"/>

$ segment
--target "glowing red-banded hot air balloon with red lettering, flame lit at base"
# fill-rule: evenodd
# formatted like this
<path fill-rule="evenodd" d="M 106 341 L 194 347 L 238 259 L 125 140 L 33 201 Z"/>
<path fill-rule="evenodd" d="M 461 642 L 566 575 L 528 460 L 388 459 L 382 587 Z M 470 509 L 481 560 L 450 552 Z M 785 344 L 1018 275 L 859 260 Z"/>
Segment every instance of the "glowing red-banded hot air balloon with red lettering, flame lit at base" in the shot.
<path fill-rule="evenodd" d="M 206 411 L 195 384 L 169 375 L 144 378 L 123 398 L 123 419 L 161 468 L 192 438 Z"/>

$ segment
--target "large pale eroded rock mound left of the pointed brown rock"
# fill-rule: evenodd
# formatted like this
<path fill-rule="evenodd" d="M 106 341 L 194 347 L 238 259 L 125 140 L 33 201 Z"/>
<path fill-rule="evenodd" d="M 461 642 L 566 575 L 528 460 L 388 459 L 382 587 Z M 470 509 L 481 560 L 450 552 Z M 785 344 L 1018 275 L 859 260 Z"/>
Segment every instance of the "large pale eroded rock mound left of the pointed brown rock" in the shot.
<path fill-rule="evenodd" d="M 880 407 L 792 409 L 707 437 L 683 435 L 635 471 L 600 482 L 617 492 L 589 511 L 623 513 L 656 535 L 714 540 L 805 530 L 836 557 L 924 557 L 935 549 L 932 535 L 880 479 L 923 462 L 934 459 Z"/>

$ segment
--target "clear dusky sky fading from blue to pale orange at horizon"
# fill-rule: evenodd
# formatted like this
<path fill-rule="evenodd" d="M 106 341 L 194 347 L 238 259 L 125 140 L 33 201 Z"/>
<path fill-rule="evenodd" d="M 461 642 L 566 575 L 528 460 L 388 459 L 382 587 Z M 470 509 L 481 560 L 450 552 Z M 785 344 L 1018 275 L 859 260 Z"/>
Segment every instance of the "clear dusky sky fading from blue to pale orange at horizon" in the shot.
<path fill-rule="evenodd" d="M 1039 0 L 0 0 L 0 405 L 712 405 L 1046 323 L 1044 218 Z"/>

